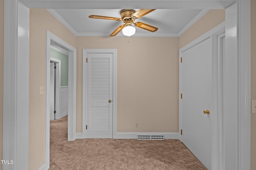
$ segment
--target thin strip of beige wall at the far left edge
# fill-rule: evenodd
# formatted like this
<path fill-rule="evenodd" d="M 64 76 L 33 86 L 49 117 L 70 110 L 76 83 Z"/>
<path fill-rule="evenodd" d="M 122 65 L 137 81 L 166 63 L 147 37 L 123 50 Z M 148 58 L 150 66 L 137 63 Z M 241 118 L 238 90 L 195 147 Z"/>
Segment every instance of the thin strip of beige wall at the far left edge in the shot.
<path fill-rule="evenodd" d="M 0 160 L 3 153 L 3 90 L 4 90 L 4 0 L 0 0 Z M 2 164 L 0 164 L 2 170 Z"/>

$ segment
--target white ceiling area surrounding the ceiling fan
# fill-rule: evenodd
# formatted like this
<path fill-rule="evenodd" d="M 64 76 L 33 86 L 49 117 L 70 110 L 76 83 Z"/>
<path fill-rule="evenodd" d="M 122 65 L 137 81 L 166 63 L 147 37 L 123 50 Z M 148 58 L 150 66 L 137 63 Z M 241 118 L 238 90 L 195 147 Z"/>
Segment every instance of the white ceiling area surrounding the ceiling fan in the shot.
<path fill-rule="evenodd" d="M 109 36 L 121 21 L 88 18 L 90 15 L 120 18 L 122 9 L 55 9 L 48 10 L 76 36 Z M 138 9 L 134 9 L 138 10 Z M 208 10 L 200 9 L 157 9 L 142 18 L 136 19 L 155 27 L 154 33 L 136 27 L 133 36 L 178 37 Z M 122 31 L 117 36 L 123 36 Z"/>

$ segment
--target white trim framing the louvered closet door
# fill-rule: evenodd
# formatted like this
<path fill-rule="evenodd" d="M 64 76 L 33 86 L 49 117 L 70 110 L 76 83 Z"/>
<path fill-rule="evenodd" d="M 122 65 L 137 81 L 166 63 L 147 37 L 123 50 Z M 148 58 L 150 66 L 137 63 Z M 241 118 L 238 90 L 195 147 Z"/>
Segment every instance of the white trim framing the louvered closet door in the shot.
<path fill-rule="evenodd" d="M 86 58 L 88 53 L 112 53 L 113 54 L 113 139 L 116 138 L 116 99 L 117 99 L 117 50 L 116 49 L 83 49 L 83 95 L 82 95 L 82 136 L 83 138 L 87 138 L 86 131 L 86 117 L 87 117 L 87 64 Z"/>

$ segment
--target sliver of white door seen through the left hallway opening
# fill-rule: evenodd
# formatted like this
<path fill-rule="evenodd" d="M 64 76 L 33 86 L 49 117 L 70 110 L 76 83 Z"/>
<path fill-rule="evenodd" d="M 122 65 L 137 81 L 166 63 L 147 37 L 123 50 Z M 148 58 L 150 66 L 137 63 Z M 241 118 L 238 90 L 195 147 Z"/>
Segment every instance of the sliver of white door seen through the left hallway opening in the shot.
<path fill-rule="evenodd" d="M 55 110 L 55 63 L 50 64 L 50 120 L 54 120 Z"/>

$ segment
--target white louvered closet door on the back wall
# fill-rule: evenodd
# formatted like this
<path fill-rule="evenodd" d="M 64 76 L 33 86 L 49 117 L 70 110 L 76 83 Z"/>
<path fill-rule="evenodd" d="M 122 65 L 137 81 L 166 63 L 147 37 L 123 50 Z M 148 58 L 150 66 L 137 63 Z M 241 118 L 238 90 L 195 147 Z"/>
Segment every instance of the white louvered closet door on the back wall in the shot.
<path fill-rule="evenodd" d="M 88 53 L 87 61 L 87 137 L 112 138 L 113 53 Z"/>

